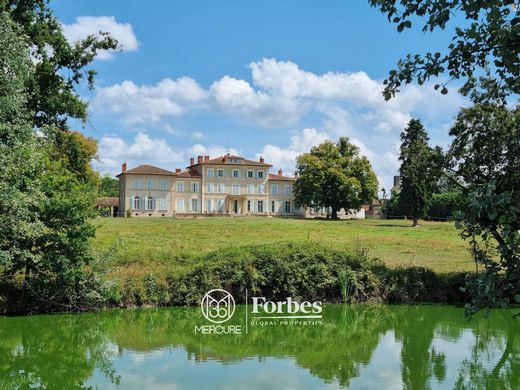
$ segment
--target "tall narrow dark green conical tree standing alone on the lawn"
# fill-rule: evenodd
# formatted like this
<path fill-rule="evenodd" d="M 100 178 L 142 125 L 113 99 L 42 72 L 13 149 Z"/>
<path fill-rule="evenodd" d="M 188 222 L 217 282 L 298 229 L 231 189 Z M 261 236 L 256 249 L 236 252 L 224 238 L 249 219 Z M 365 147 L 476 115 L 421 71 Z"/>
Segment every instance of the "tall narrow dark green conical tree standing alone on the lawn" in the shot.
<path fill-rule="evenodd" d="M 442 151 L 428 145 L 428 134 L 418 119 L 401 133 L 401 192 L 399 203 L 413 225 L 426 215 L 442 167 Z"/>

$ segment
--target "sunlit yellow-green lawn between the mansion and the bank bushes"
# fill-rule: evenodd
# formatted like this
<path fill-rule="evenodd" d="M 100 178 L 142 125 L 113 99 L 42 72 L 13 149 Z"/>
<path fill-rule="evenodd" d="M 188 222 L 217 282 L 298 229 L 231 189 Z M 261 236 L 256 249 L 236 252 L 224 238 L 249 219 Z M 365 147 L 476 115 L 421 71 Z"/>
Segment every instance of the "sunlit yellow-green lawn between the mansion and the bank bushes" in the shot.
<path fill-rule="evenodd" d="M 98 219 L 94 248 L 115 248 L 114 265 L 153 266 L 172 255 L 279 241 L 319 242 L 348 249 L 362 245 L 391 267 L 423 266 L 437 272 L 474 269 L 468 245 L 448 222 L 326 221 L 279 218 Z"/>

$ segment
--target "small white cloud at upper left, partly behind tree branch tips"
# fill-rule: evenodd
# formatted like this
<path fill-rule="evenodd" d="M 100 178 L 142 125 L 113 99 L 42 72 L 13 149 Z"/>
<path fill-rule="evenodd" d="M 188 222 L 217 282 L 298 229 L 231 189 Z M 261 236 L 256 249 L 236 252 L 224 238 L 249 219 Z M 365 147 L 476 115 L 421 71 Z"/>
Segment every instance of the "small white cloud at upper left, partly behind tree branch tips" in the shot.
<path fill-rule="evenodd" d="M 117 39 L 120 50 L 137 51 L 139 42 L 130 23 L 118 23 L 113 16 L 78 16 L 73 24 L 62 24 L 63 34 L 69 42 L 75 43 L 89 35 L 107 32 Z M 98 52 L 100 60 L 112 59 L 114 50 Z"/>

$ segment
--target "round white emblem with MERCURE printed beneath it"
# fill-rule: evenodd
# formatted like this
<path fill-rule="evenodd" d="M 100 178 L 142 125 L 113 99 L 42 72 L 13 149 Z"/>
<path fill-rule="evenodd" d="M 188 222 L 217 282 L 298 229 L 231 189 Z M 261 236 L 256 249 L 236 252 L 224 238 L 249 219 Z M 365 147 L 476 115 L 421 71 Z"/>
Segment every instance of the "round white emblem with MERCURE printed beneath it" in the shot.
<path fill-rule="evenodd" d="M 241 325 L 222 325 L 235 314 L 235 299 L 222 289 L 208 291 L 200 301 L 202 315 L 216 325 L 195 325 L 195 333 L 201 334 L 241 334 Z"/>

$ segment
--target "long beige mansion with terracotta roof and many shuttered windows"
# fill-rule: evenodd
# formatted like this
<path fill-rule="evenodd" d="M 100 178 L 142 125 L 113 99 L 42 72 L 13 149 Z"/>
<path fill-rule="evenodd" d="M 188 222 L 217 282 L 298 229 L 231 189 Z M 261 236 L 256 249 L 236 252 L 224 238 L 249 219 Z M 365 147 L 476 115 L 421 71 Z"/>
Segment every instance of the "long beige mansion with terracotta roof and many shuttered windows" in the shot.
<path fill-rule="evenodd" d="M 269 173 L 272 165 L 225 155 L 191 158 L 175 172 L 141 165 L 122 166 L 120 216 L 276 215 L 304 216 L 294 204 L 295 177 Z"/>

